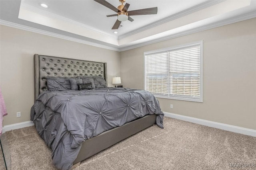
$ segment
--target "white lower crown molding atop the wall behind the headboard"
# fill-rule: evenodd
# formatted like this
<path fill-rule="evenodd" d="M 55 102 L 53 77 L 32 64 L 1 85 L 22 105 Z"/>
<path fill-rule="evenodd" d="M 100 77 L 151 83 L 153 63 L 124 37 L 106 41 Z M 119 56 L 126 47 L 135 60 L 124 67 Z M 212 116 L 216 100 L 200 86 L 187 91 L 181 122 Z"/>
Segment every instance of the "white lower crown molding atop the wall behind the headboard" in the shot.
<path fill-rule="evenodd" d="M 68 37 L 68 36 L 65 36 L 65 35 L 60 35 L 60 34 L 57 34 L 57 33 L 52 33 L 52 32 L 49 32 L 49 31 L 44 31 L 44 30 L 41 30 L 41 29 L 32 28 L 32 27 L 28 27 L 28 26 L 25 26 L 25 25 L 20 25 L 18 23 L 12 23 L 12 22 L 5 21 L 5 20 L 0 20 L 0 25 L 5 25 L 5 26 L 8 26 L 8 27 L 18 28 L 18 29 L 22 29 L 22 30 L 25 30 L 25 31 L 30 31 L 30 32 L 34 32 L 34 33 L 43 34 L 43 35 L 48 35 L 48 36 L 51 36 L 51 37 L 56 37 L 56 38 L 65 39 L 65 40 L 69 40 L 69 41 L 74 41 L 74 42 L 82 43 L 82 44 L 86 44 L 86 45 L 92 45 L 92 46 L 100 47 L 100 48 L 103 48 L 103 49 L 119 51 L 118 48 L 109 47 L 109 46 L 106 46 L 106 45 L 100 45 L 98 43 L 92 43 L 92 42 L 85 41 L 85 40 L 82 40 L 82 39 Z"/>

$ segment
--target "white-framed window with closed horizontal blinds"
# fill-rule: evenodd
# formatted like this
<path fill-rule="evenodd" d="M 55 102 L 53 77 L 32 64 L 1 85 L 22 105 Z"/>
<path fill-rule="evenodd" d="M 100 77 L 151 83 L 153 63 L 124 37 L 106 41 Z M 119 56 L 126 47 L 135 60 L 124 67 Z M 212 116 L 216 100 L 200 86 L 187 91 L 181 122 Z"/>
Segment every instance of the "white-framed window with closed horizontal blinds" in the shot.
<path fill-rule="evenodd" d="M 144 53 L 144 89 L 158 98 L 202 102 L 202 41 Z"/>

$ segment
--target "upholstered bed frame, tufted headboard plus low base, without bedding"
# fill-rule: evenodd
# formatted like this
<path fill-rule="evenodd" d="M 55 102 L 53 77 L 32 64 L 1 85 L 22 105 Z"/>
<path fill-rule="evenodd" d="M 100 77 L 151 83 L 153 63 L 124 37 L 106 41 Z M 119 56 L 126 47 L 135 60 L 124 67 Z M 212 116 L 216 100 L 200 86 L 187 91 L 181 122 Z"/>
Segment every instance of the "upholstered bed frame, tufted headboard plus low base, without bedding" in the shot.
<path fill-rule="evenodd" d="M 46 76 L 77 77 L 77 76 L 102 76 L 107 80 L 107 63 L 83 61 L 52 57 L 46 55 L 34 55 L 34 99 L 47 89 Z M 86 140 L 80 152 L 73 162 L 72 168 L 79 166 L 82 160 L 107 149 L 108 147 L 154 125 L 156 115 L 146 115 L 121 127 L 116 127 L 101 133 L 96 137 Z"/>

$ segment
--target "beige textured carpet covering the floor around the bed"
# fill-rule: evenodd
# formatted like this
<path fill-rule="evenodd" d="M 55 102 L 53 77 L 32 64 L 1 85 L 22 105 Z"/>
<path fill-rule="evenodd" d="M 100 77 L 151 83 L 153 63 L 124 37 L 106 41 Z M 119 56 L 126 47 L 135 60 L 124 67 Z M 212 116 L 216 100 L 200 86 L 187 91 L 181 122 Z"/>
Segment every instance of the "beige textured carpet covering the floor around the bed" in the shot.
<path fill-rule="evenodd" d="M 11 170 L 54 170 L 34 126 L 6 132 Z M 251 167 L 231 167 L 230 164 Z M 255 165 L 255 167 L 252 167 Z M 256 137 L 164 117 L 156 125 L 88 158 L 75 170 L 256 170 Z"/>

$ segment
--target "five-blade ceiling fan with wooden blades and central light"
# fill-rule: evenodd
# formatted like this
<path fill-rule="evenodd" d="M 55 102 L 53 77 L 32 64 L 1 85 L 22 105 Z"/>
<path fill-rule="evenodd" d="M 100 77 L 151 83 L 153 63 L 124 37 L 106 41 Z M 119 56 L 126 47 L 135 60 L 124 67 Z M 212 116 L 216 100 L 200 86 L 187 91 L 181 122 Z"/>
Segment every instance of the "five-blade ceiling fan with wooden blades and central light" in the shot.
<path fill-rule="evenodd" d="M 131 22 L 134 21 L 130 16 L 157 14 L 157 7 L 127 11 L 130 4 L 126 3 L 124 5 L 124 2 L 126 0 L 119 0 L 122 3 L 122 5 L 118 6 L 117 8 L 111 5 L 110 3 L 108 3 L 106 0 L 94 0 L 94 1 L 106 6 L 110 10 L 113 10 L 114 12 L 117 12 L 117 14 L 107 16 L 107 17 L 117 16 L 116 23 L 114 24 L 112 29 L 118 29 L 122 21 L 127 21 L 127 20 Z"/>

